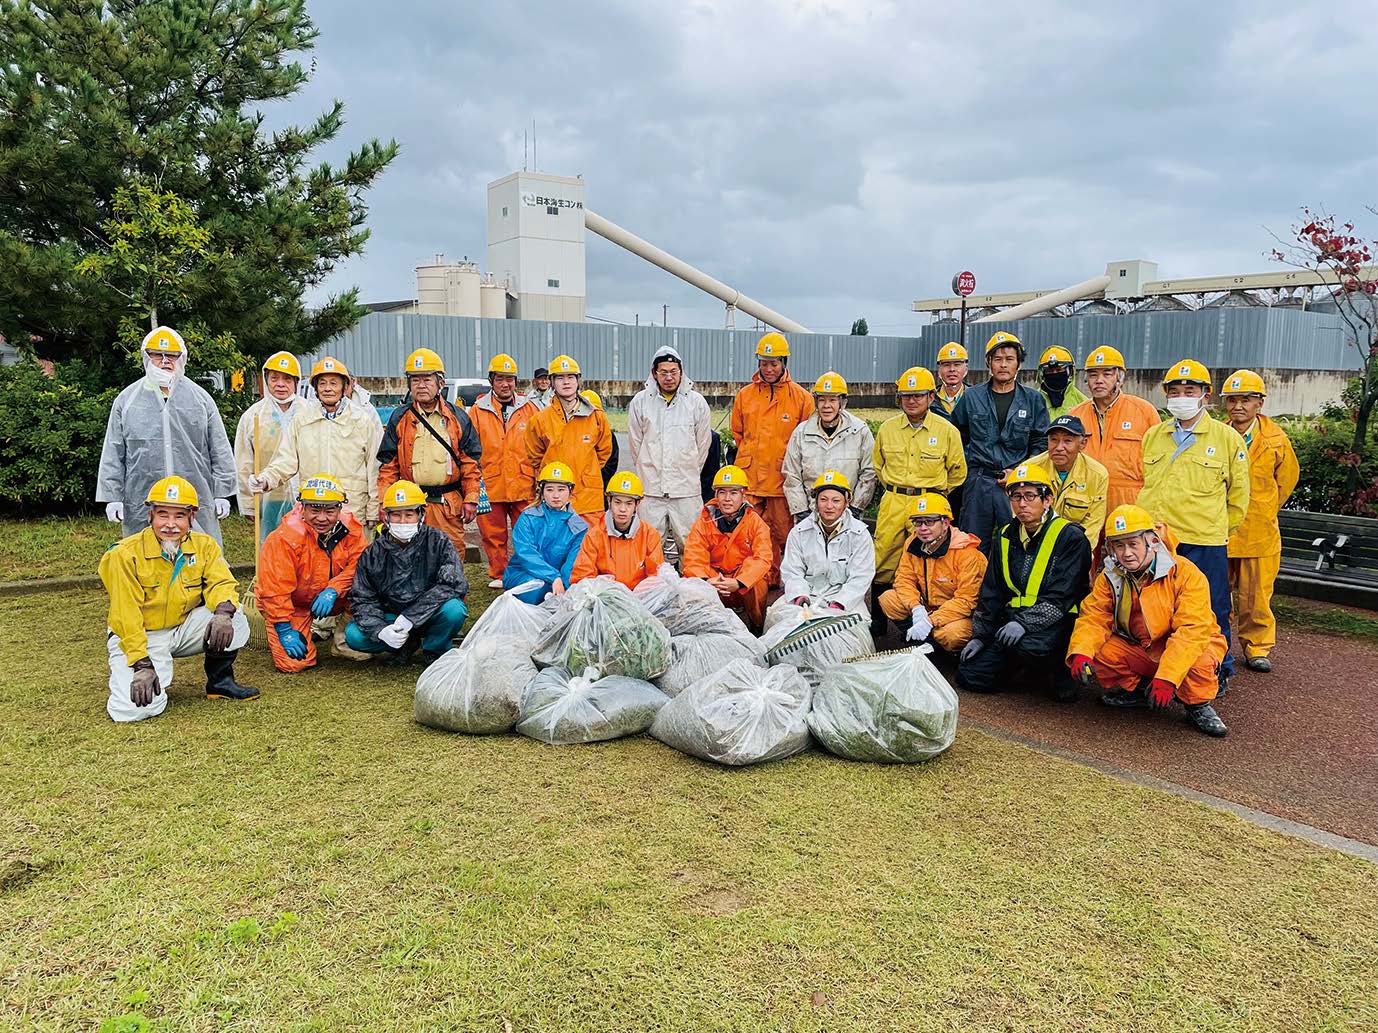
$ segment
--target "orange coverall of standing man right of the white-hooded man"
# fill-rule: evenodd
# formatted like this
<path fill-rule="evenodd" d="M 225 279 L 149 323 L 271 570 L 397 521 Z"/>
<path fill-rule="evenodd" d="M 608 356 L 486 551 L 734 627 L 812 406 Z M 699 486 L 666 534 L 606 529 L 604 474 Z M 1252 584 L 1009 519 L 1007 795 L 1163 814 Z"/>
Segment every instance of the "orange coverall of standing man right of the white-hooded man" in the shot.
<path fill-rule="evenodd" d="M 790 379 L 790 371 L 774 384 L 751 377 L 732 402 L 732 439 L 737 444 L 737 466 L 751 486 L 747 501 L 770 528 L 769 588 L 780 585 L 780 558 L 794 528 L 784 497 L 784 450 L 795 428 L 813 416 L 813 395 Z M 809 485 L 812 488 L 812 485 Z"/>

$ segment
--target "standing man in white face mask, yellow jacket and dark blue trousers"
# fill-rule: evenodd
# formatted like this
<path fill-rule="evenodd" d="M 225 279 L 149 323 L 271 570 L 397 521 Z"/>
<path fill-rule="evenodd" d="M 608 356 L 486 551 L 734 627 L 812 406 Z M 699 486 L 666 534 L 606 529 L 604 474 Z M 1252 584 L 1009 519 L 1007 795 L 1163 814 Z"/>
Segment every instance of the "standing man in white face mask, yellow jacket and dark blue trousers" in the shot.
<path fill-rule="evenodd" d="M 1177 536 L 1177 555 L 1200 567 L 1225 636 L 1221 689 L 1235 674 L 1229 654 L 1229 536 L 1248 512 L 1248 450 L 1228 423 L 1206 412 L 1210 371 L 1184 358 L 1163 376 L 1173 419 L 1144 435 L 1144 490 L 1138 505 Z"/>

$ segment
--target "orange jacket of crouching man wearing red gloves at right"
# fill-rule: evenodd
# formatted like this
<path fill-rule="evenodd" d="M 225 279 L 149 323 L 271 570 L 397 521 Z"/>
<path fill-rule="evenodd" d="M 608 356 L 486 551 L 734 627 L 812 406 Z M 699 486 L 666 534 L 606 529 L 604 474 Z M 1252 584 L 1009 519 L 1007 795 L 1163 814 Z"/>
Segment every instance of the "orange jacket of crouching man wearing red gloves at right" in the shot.
<path fill-rule="evenodd" d="M 1203 653 L 1210 650 L 1215 664 L 1220 664 L 1226 646 L 1210 607 L 1210 583 L 1206 574 L 1173 551 L 1175 539 L 1164 528 L 1159 528 L 1159 534 L 1164 540 L 1155 559 L 1153 580 L 1138 596 L 1149 640 L 1134 645 L 1158 657 L 1159 678 L 1180 686 Z M 1091 594 L 1082 601 L 1082 612 L 1067 647 L 1068 657 L 1094 657 L 1116 634 L 1115 601 L 1126 588 L 1127 583 L 1115 561 L 1107 559 L 1091 585 Z"/>

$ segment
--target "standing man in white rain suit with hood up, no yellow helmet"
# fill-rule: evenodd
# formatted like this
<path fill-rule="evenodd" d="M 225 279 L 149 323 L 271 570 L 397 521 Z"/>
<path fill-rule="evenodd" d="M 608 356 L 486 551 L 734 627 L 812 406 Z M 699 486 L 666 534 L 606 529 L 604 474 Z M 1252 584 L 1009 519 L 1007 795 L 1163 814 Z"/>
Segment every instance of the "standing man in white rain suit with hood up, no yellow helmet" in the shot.
<path fill-rule="evenodd" d="M 638 516 L 660 533 L 670 562 L 683 554 L 703 510 L 700 474 L 712 435 L 708 402 L 685 376 L 679 353 L 659 348 L 646 386 L 627 406 L 627 450 L 646 492 Z"/>

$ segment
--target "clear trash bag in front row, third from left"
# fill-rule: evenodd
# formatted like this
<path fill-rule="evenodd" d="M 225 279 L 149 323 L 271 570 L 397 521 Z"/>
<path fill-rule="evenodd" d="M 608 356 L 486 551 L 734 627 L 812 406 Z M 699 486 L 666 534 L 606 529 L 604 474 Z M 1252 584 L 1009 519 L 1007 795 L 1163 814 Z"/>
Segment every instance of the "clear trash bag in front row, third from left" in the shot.
<path fill-rule="evenodd" d="M 777 760 L 809 745 L 810 694 L 792 667 L 762 671 L 750 660 L 733 660 L 667 702 L 650 734 L 719 764 Z"/>

